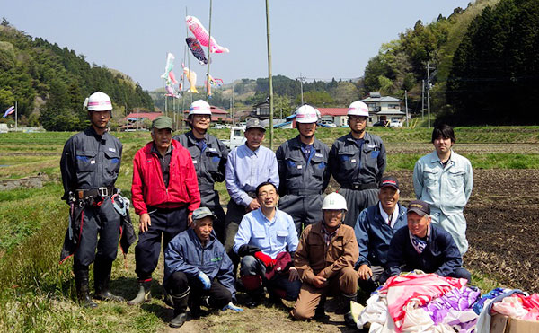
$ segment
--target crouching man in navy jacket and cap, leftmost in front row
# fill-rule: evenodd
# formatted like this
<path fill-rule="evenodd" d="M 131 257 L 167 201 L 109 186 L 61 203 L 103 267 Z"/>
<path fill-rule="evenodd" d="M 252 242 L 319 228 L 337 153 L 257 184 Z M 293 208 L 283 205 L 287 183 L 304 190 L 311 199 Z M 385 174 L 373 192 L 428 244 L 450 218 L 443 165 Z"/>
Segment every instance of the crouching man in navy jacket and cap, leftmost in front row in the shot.
<path fill-rule="evenodd" d="M 203 314 L 200 305 L 243 311 L 232 303 L 233 265 L 213 232 L 216 215 L 208 207 L 201 207 L 192 218 L 193 229 L 179 233 L 164 251 L 163 285 L 174 303 L 172 328 L 183 325 L 188 305 L 193 318 Z"/>

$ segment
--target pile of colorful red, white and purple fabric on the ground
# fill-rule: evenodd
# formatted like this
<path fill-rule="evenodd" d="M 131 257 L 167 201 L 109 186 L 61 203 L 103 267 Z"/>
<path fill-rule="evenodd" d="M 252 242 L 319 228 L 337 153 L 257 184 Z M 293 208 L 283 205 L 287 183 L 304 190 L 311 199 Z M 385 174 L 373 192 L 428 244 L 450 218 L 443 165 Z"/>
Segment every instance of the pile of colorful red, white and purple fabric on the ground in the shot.
<path fill-rule="evenodd" d="M 490 315 L 539 320 L 539 294 L 496 288 L 482 295 L 465 279 L 393 276 L 367 300 L 358 329 L 369 332 L 489 332 Z"/>

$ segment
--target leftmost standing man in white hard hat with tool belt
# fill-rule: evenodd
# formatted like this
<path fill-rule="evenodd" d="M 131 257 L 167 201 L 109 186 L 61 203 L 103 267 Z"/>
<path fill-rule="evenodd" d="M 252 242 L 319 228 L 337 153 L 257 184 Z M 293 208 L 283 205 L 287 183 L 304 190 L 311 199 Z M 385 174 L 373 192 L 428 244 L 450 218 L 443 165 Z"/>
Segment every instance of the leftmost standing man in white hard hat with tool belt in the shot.
<path fill-rule="evenodd" d="M 111 197 L 118 197 L 122 145 L 108 132 L 112 112 L 110 97 L 94 92 L 84 101 L 91 126 L 71 136 L 60 160 L 64 196 L 70 206 L 61 262 L 74 255 L 73 271 L 77 297 L 84 307 L 97 307 L 89 294 L 88 269 L 93 263 L 94 297 L 123 301 L 110 293 L 110 270 L 118 252 L 122 216 Z M 99 234 L 99 241 L 98 241 Z M 97 250 L 97 254 L 96 254 Z"/>

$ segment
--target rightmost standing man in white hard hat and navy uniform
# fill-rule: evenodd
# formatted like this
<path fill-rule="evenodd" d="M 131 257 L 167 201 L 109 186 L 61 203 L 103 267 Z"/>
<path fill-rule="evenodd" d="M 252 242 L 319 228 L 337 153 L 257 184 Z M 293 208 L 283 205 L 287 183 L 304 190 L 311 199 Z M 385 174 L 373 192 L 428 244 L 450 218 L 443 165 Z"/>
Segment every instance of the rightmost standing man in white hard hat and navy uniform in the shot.
<path fill-rule="evenodd" d="M 354 226 L 359 213 L 378 201 L 378 184 L 386 166 L 385 146 L 379 136 L 367 133 L 368 107 L 354 101 L 348 110 L 350 133 L 331 146 L 330 171 L 346 198 L 345 224 Z"/>

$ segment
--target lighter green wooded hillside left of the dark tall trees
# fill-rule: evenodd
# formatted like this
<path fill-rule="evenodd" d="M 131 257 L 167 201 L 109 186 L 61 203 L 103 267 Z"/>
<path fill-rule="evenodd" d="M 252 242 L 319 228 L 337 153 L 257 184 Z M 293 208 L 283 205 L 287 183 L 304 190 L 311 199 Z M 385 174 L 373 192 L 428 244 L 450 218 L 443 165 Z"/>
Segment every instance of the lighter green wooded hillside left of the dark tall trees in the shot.
<path fill-rule="evenodd" d="M 403 98 L 406 90 L 409 106 L 419 112 L 421 81 L 427 79 L 429 62 L 431 109 L 435 112 L 450 109 L 446 105 L 446 81 L 453 66 L 455 50 L 464 40 L 470 24 L 485 8 L 494 7 L 499 2 L 476 0 L 465 9 L 455 8 L 448 16 L 440 13 L 434 22 L 418 21 L 414 27 L 402 32 L 398 39 L 384 43 L 365 69 L 365 91 L 381 91 Z"/>

